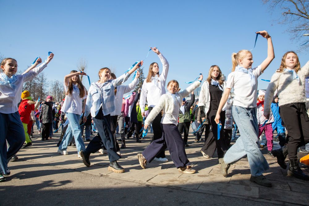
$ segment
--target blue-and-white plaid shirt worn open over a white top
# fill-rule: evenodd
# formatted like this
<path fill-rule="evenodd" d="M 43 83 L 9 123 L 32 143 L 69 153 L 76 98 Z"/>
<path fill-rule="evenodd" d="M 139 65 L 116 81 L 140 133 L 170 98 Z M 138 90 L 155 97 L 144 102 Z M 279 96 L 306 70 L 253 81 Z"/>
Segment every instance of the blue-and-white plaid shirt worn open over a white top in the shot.
<path fill-rule="evenodd" d="M 126 72 L 117 79 L 104 82 L 103 85 L 97 84 L 97 82 L 92 83 L 89 88 L 84 115 L 88 116 L 91 113 L 91 116 L 95 117 L 101 106 L 104 115 L 111 114 L 115 111 L 114 89 L 123 84 L 129 76 L 129 73 Z"/>

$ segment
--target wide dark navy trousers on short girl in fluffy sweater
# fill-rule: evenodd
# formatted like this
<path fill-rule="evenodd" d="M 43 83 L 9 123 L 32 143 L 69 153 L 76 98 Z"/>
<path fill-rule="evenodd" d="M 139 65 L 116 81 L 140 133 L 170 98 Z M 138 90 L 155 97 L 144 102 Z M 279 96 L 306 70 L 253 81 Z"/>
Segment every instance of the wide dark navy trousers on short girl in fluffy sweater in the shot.
<path fill-rule="evenodd" d="M 184 141 L 175 124 L 161 124 L 163 135 L 148 145 L 143 151 L 143 156 L 151 162 L 160 152 L 167 148 L 171 159 L 177 168 L 189 165 L 189 160 L 184 149 Z"/>

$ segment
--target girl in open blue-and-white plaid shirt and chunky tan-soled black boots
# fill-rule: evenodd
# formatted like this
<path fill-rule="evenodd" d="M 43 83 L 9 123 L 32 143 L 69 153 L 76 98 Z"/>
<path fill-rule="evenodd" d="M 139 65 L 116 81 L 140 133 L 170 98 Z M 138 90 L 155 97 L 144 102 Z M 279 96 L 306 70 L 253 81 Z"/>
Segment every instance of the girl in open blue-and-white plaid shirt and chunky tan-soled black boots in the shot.
<path fill-rule="evenodd" d="M 115 139 L 111 130 L 111 113 L 116 109 L 115 88 L 123 84 L 129 78 L 130 74 L 142 65 L 143 61 L 137 63 L 131 70 L 125 72 L 125 74 L 116 79 L 110 79 L 111 70 L 104 67 L 99 70 L 100 80 L 90 85 L 86 101 L 84 122 L 87 121 L 87 116 L 91 113 L 91 117 L 99 131 L 102 141 L 94 138 L 90 141 L 85 150 L 79 152 L 80 156 L 83 158 L 83 163 L 87 167 L 90 166 L 90 154 L 105 146 L 110 161 L 108 170 L 115 173 L 125 172 L 125 169 L 117 163 L 117 160 L 120 159 L 120 155 L 117 154 Z"/>

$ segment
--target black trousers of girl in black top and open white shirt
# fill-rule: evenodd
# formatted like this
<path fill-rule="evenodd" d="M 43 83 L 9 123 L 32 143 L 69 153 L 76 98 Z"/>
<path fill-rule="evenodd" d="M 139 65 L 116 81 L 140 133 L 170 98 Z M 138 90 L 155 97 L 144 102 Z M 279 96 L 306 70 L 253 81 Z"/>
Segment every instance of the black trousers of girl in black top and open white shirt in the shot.
<path fill-rule="evenodd" d="M 224 136 L 223 129 L 220 132 L 220 139 L 218 139 L 218 125 L 214 121 L 217 114 L 217 109 L 210 109 L 208 111 L 207 117 L 208 122 L 212 128 L 212 133 L 209 133 L 207 138 L 205 139 L 205 143 L 201 149 L 201 151 L 205 152 L 205 154 L 209 155 L 210 157 L 214 156 L 214 152 L 217 149 L 218 158 L 222 158 L 226 151 L 228 150 L 229 146 L 226 144 L 226 139 Z M 220 121 L 222 123 L 222 128 L 224 128 L 225 124 L 225 111 L 220 113 Z"/>

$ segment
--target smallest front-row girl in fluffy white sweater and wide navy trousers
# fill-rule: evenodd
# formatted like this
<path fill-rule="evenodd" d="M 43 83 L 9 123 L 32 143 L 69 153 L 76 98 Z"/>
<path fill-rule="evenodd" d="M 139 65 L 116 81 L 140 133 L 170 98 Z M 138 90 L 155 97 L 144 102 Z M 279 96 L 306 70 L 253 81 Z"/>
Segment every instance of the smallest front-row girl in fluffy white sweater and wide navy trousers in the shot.
<path fill-rule="evenodd" d="M 195 170 L 191 169 L 190 161 L 184 149 L 184 141 L 178 131 L 178 114 L 182 104 L 182 99 L 187 97 L 194 89 L 196 89 L 203 79 L 200 75 L 198 81 L 194 82 L 188 88 L 181 92 L 177 92 L 179 84 L 176 80 L 171 80 L 167 84 L 166 94 L 163 94 L 157 105 L 151 110 L 145 120 L 144 128 L 147 129 L 158 114 L 161 115 L 163 109 L 163 117 L 161 120 L 161 128 L 163 135 L 160 139 L 156 139 L 142 152 L 138 153 L 138 161 L 142 168 L 146 169 L 147 161 L 150 163 L 157 154 L 166 148 L 170 152 L 171 159 L 180 172 L 193 174 Z"/>

